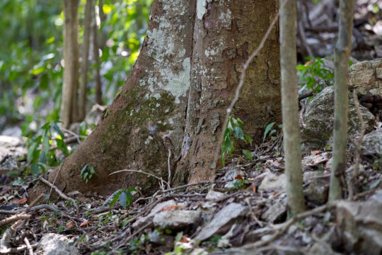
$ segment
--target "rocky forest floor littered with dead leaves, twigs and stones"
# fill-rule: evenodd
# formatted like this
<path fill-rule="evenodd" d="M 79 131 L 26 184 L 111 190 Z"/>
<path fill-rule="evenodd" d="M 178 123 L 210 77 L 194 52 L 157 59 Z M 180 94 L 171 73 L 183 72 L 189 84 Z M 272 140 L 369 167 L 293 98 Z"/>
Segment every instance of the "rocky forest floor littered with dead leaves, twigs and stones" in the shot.
<path fill-rule="evenodd" d="M 1 158 L 0 171 L 23 169 L 23 142 L 1 140 L 8 153 Z M 52 247 L 59 254 L 76 254 L 74 247 L 79 254 L 357 254 L 365 252 L 365 246 L 376 251 L 366 249 L 367 254 L 379 254 L 381 232 L 376 240 L 359 235 L 382 226 L 382 158 L 364 158 L 354 183 L 357 202 L 331 204 L 332 152 L 306 154 L 302 162 L 307 211 L 288 218 L 281 145 L 281 135 L 275 136 L 253 151 L 252 162 L 238 157 L 219 169 L 215 181 L 163 187 L 148 197 L 131 191 L 132 203 L 125 208 L 119 201 L 112 205 L 108 197 L 79 192 L 53 191 L 51 197 L 30 201 L 28 187 L 42 177 L 2 177 L 0 252 L 15 253 L 28 242 L 37 254 L 47 254 Z M 348 156 L 351 171 L 354 155 Z M 68 246 L 49 243 L 57 239 Z"/>

